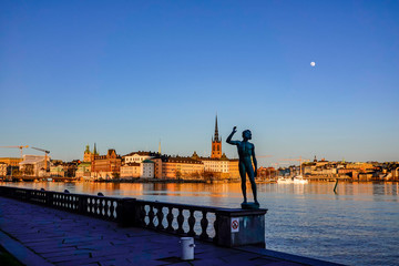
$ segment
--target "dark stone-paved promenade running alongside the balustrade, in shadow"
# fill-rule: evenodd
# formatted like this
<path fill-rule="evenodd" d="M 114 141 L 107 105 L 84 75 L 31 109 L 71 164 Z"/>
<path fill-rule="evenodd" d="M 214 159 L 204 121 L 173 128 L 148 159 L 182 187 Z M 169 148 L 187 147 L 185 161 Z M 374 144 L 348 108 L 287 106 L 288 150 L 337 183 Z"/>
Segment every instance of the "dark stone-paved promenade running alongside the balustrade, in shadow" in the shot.
<path fill-rule="evenodd" d="M 178 241 L 178 236 L 0 197 L 0 245 L 28 266 L 326 265 L 264 248 L 224 248 L 203 242 L 195 243 L 195 260 L 182 262 Z"/>

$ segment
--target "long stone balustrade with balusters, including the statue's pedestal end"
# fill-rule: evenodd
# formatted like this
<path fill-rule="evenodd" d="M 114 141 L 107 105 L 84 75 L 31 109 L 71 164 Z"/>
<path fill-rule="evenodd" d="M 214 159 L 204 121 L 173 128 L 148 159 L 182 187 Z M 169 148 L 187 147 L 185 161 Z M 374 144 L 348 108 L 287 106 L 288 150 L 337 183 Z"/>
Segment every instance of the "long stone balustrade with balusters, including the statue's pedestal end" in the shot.
<path fill-rule="evenodd" d="M 265 246 L 267 209 L 219 208 L 0 186 L 0 196 L 41 204 L 222 246 Z"/>

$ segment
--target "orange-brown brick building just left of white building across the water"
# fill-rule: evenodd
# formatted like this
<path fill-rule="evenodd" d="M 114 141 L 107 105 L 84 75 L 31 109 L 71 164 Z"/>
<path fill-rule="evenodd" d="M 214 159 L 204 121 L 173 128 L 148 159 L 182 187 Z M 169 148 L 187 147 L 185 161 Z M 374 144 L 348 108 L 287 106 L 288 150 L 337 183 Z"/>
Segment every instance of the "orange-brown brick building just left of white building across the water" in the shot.
<path fill-rule="evenodd" d="M 92 175 L 99 178 L 115 178 L 121 173 L 122 157 L 114 149 L 110 149 L 106 155 L 95 155 L 92 161 Z"/>

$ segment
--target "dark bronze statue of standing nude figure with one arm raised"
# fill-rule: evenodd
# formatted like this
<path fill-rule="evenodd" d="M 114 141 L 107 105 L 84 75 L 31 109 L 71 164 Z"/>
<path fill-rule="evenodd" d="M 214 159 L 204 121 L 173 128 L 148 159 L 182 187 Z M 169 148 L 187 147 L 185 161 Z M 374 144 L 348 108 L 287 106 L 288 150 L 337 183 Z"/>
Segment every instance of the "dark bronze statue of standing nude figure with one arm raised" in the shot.
<path fill-rule="evenodd" d="M 244 202 L 242 203 L 243 208 L 259 208 L 259 203 L 257 201 L 256 195 L 256 183 L 255 177 L 257 175 L 257 162 L 255 157 L 255 145 L 249 143 L 248 140 L 252 140 L 252 133 L 249 130 L 243 131 L 243 141 L 232 141 L 233 135 L 237 132 L 237 126 L 233 127 L 233 132 L 227 137 L 226 142 L 232 145 L 237 146 L 238 151 L 238 168 L 239 168 L 239 176 L 242 178 L 242 190 Z M 254 162 L 254 165 L 253 165 Z M 255 166 L 255 170 L 254 170 Z M 254 204 L 247 203 L 246 197 L 246 175 L 250 181 L 252 191 L 254 194 Z"/>

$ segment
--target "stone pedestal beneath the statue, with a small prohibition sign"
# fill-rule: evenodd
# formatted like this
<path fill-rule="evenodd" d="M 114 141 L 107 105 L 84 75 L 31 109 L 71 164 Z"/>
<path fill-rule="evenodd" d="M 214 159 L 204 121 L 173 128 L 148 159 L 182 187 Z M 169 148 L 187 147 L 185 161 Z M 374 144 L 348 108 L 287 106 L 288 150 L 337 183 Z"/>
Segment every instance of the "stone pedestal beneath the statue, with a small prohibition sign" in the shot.
<path fill-rule="evenodd" d="M 217 245 L 235 247 L 256 245 L 266 247 L 265 214 L 266 208 L 258 209 L 219 209 L 217 212 Z"/>

